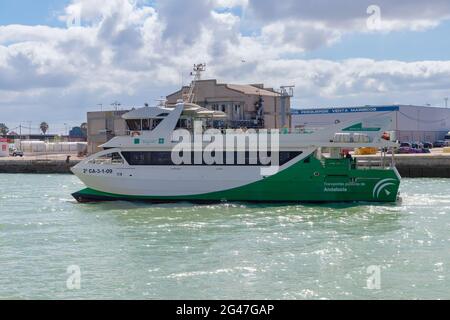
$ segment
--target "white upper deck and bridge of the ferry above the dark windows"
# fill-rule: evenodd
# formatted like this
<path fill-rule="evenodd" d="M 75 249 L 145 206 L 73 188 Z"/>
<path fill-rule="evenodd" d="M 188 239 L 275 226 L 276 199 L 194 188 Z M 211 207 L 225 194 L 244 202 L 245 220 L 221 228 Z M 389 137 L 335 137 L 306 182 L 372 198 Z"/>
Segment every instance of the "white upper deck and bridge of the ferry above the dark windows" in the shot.
<path fill-rule="evenodd" d="M 278 144 L 285 148 L 392 148 L 398 144 L 393 141 L 392 115 L 375 116 L 348 123 L 307 131 L 301 128 L 281 130 L 267 129 L 229 129 L 221 126 L 226 114 L 211 111 L 192 103 L 179 101 L 175 106 L 145 107 L 123 115 L 128 130 L 104 145 L 103 148 L 173 148 L 183 142 L 199 142 L 207 145 L 216 139 L 247 139 L 250 144 L 266 138 L 270 145 Z M 219 125 L 218 125 L 219 124 Z M 176 134 L 174 134 L 176 133 Z M 230 137 L 231 136 L 231 137 Z M 197 139 L 197 140 L 196 140 Z M 200 139 L 200 140 L 199 140 Z M 255 143 L 256 141 L 256 143 Z"/>

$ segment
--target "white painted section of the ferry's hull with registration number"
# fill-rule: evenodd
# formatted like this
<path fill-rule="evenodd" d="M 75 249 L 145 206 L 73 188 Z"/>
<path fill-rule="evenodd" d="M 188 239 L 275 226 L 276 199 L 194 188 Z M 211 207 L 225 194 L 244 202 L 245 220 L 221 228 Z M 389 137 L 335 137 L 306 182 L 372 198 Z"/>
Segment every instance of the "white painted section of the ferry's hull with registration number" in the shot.
<path fill-rule="evenodd" d="M 117 150 L 120 151 L 120 150 Z M 114 152 L 108 150 L 107 152 Z M 279 168 L 285 170 L 313 152 L 304 149 Z M 100 153 L 101 154 L 101 153 Z M 189 196 L 242 187 L 277 172 L 260 166 L 130 166 L 90 164 L 89 159 L 72 168 L 89 188 L 133 196 Z"/>

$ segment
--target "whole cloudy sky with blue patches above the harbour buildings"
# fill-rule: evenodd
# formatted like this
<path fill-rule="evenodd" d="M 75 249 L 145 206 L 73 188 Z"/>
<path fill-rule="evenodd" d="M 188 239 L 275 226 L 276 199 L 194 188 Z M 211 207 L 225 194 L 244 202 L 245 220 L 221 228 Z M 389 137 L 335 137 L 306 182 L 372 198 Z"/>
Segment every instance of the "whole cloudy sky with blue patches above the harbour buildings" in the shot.
<path fill-rule="evenodd" d="M 442 106 L 448 0 L 2 0 L 0 122 L 64 133 L 86 112 L 156 104 L 193 64 L 295 85 L 295 108 Z"/>

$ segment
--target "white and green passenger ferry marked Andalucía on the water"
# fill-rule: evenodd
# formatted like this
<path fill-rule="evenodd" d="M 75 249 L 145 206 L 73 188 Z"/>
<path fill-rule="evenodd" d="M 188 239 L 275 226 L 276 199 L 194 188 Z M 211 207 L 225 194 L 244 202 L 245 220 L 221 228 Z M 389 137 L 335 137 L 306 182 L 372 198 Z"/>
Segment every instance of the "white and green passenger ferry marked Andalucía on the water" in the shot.
<path fill-rule="evenodd" d="M 244 149 L 223 152 L 211 152 L 212 139 L 202 139 L 176 152 L 180 150 L 176 132 L 192 133 L 196 121 L 208 129 L 226 117 L 192 103 L 180 100 L 173 106 L 145 107 L 123 117 L 129 132 L 72 168 L 87 186 L 73 194 L 76 200 L 395 202 L 398 198 L 401 177 L 393 158 L 386 161 L 386 150 L 398 147 L 387 137 L 393 123 L 389 112 L 316 132 L 271 133 L 266 143 L 271 151 L 265 156 L 257 152 L 264 145 L 261 139 Z M 239 134 L 249 135 L 245 130 Z M 262 131 L 253 134 L 259 137 Z M 384 150 L 379 166 L 361 163 L 345 151 L 361 147 Z"/>

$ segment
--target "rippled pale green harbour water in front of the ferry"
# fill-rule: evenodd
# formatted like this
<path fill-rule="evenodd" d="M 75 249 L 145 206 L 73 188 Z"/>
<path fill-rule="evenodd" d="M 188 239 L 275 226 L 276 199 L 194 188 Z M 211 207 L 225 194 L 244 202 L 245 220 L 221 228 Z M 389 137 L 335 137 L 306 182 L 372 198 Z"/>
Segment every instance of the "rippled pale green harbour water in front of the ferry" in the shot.
<path fill-rule="evenodd" d="M 77 204 L 74 176 L 0 184 L 2 299 L 450 298 L 450 180 L 405 179 L 381 206 Z"/>

